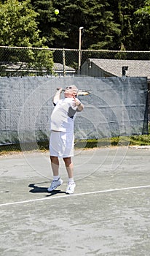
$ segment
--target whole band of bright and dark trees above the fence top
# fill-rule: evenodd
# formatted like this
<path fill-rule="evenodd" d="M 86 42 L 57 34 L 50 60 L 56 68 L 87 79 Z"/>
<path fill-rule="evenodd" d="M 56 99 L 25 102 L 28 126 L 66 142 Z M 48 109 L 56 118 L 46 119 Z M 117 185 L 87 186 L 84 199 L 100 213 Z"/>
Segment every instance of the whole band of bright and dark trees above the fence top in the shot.
<path fill-rule="evenodd" d="M 0 45 L 79 48 L 83 26 L 82 49 L 149 50 L 149 8 L 150 0 L 1 1 Z"/>

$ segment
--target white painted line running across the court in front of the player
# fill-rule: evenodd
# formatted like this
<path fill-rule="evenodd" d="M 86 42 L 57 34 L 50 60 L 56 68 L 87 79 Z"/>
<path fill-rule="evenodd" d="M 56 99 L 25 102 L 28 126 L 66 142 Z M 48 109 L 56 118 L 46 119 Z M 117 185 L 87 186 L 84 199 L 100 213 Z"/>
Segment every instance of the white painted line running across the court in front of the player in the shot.
<path fill-rule="evenodd" d="M 53 200 L 57 198 L 64 198 L 64 197 L 77 197 L 79 195 L 93 195 L 93 194 L 100 194 L 100 193 L 106 193 L 106 192 L 115 192 L 115 191 L 122 191 L 122 190 L 130 190 L 130 189 L 146 189 L 150 187 L 150 185 L 146 186 L 139 186 L 139 187 L 123 187 L 121 189 L 105 189 L 105 190 L 99 190 L 99 191 L 92 191 L 92 192 L 84 192 L 84 193 L 78 193 L 78 194 L 73 194 L 73 195 L 58 195 L 55 197 L 43 197 L 43 198 L 38 198 L 38 199 L 33 199 L 33 200 L 25 200 L 25 201 L 18 201 L 18 202 L 12 202 L 12 203 L 1 203 L 1 206 L 12 206 L 16 204 L 21 204 L 21 203 L 33 203 L 36 201 L 43 201 L 43 200 Z"/>

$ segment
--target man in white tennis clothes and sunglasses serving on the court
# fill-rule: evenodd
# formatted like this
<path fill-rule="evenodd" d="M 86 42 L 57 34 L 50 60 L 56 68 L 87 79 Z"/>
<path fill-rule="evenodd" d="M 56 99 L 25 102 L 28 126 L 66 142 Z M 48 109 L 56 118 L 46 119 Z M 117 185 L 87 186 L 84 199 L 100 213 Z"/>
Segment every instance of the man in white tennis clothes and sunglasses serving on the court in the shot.
<path fill-rule="evenodd" d="M 59 175 L 59 158 L 63 158 L 68 173 L 68 186 L 66 194 L 73 194 L 76 184 L 74 182 L 74 165 L 71 157 L 74 156 L 74 118 L 76 112 L 84 109 L 84 105 L 76 98 L 76 86 L 68 86 L 64 91 L 64 99 L 60 99 L 62 88 L 58 89 L 53 99 L 55 106 L 50 119 L 50 160 L 53 181 L 48 192 L 52 192 L 63 184 Z"/>

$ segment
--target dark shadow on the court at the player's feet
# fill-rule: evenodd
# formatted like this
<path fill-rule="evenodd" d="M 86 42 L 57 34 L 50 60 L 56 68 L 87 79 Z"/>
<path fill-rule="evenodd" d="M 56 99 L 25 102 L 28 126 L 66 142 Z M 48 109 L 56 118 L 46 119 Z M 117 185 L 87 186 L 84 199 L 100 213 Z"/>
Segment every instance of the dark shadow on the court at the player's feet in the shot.
<path fill-rule="evenodd" d="M 32 188 L 31 190 L 29 190 L 29 192 L 31 192 L 31 193 L 49 193 L 49 195 L 47 195 L 47 197 L 50 197 L 50 196 L 58 194 L 58 193 L 59 194 L 66 193 L 61 190 L 54 190 L 52 192 L 48 192 L 47 187 L 38 187 L 36 184 L 29 184 L 28 187 Z"/>

